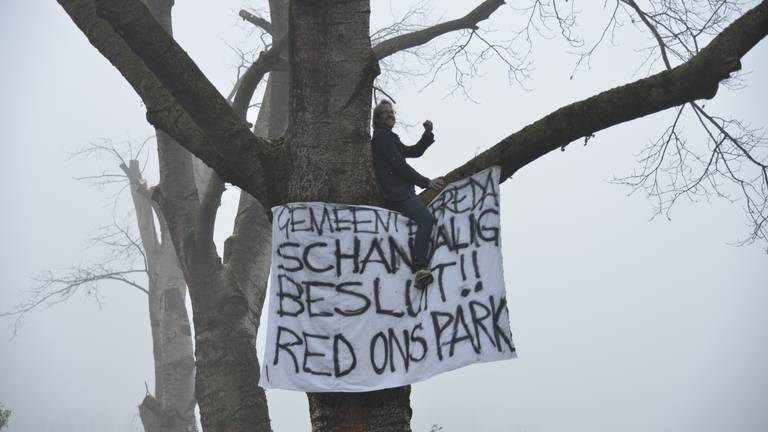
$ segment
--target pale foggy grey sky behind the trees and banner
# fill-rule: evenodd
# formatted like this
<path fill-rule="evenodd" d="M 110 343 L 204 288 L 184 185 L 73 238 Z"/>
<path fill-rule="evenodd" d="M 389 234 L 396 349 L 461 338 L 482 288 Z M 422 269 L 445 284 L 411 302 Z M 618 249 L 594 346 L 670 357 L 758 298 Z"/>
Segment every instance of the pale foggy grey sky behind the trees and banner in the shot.
<path fill-rule="evenodd" d="M 237 11 L 264 5 L 176 3 L 175 37 L 228 93 L 238 64 L 229 46 L 259 48 Z M 372 3 L 374 28 L 400 14 L 387 2 Z M 476 2 L 461 3 L 435 2 L 428 20 L 460 16 Z M 515 16 L 506 5 L 482 27 L 503 39 Z M 41 272 L 99 257 L 86 240 L 112 221 L 116 189 L 73 178 L 116 164 L 69 154 L 101 139 L 138 144 L 152 129 L 140 99 L 57 4 L 0 0 L 0 17 L 0 311 L 7 311 Z M 595 18 L 585 11 L 588 41 L 604 15 Z M 566 103 L 644 76 L 635 73 L 636 49 L 646 42 L 632 32 L 620 29 L 591 70 L 572 80 L 575 58 L 557 39 L 538 39 L 529 90 L 508 85 L 503 64 L 490 61 L 470 81 L 477 103 L 446 97 L 450 73 L 422 92 L 425 79 L 391 84 L 401 121 L 435 123 L 437 143 L 415 167 L 437 176 Z M 768 43 L 742 63 L 746 89 L 721 89 L 708 106 L 764 126 Z M 451 432 L 768 430 L 766 245 L 730 245 L 748 233 L 743 203 L 681 201 L 671 220 L 650 220 L 651 201 L 608 182 L 632 171 L 636 153 L 672 114 L 599 132 L 588 146 L 553 152 L 503 184 L 504 270 L 519 358 L 414 385 L 415 431 L 432 424 Z M 419 135 L 418 128 L 399 132 Z M 150 162 L 151 181 L 155 166 Z M 236 202 L 230 188 L 219 242 Z M 101 308 L 78 294 L 29 315 L 13 340 L 13 320 L 0 319 L 0 402 L 13 410 L 10 431 L 142 429 L 137 405 L 145 386 L 154 387 L 146 296 L 110 284 L 101 294 Z M 276 431 L 309 430 L 303 393 L 267 396 Z"/>

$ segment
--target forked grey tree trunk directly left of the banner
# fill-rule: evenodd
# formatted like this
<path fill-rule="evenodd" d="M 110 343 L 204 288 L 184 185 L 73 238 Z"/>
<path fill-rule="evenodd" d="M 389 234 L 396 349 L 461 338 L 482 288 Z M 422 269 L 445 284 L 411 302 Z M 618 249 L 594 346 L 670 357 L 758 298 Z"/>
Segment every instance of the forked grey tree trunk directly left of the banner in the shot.
<path fill-rule="evenodd" d="M 173 1 L 146 4 L 170 34 Z M 194 388 L 203 429 L 268 431 L 266 395 L 258 387 L 256 329 L 269 272 L 269 221 L 258 202 L 242 202 L 222 263 L 213 243 L 213 225 L 223 183 L 161 130 L 157 144 L 159 201 L 192 301 Z"/>

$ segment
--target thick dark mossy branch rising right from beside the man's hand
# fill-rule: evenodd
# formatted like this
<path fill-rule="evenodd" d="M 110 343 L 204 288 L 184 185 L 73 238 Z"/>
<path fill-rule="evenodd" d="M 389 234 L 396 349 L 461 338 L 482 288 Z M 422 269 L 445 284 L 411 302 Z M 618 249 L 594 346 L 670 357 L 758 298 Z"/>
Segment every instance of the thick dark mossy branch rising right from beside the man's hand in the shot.
<path fill-rule="evenodd" d="M 570 142 L 667 108 L 711 99 L 720 81 L 741 68 L 740 59 L 768 33 L 768 0 L 724 29 L 687 62 L 656 75 L 567 105 L 451 171 L 448 181 L 501 165 L 504 181 L 518 169 Z M 434 192 L 422 197 L 431 199 Z"/>

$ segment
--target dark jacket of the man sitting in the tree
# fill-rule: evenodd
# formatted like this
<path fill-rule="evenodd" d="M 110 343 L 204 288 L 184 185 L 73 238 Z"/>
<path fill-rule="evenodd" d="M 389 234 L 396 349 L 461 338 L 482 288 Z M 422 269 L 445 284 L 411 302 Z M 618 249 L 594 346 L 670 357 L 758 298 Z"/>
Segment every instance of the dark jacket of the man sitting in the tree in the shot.
<path fill-rule="evenodd" d="M 384 199 L 404 201 L 416 195 L 414 185 L 424 189 L 429 187 L 430 180 L 411 168 L 405 158 L 423 155 L 433 142 L 435 136 L 432 132 L 424 132 L 418 143 L 407 146 L 391 129 L 374 129 L 371 138 L 373 169 Z"/>

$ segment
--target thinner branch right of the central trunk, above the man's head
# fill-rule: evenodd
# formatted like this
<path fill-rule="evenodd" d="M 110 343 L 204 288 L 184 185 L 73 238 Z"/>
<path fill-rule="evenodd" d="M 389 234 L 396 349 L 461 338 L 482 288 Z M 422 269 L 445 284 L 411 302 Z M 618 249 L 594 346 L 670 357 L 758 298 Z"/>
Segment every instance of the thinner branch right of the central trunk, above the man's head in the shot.
<path fill-rule="evenodd" d="M 486 0 L 462 18 L 387 39 L 373 47 L 373 54 L 377 59 L 381 60 L 398 51 L 423 45 L 438 36 L 452 31 L 462 29 L 476 30 L 477 23 L 488 19 L 503 4 L 503 0 Z"/>

